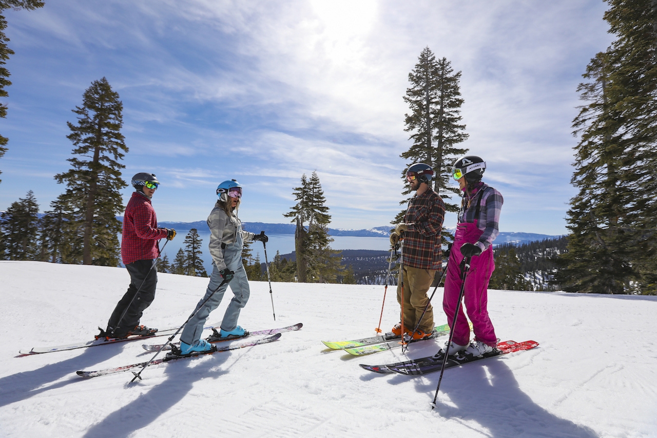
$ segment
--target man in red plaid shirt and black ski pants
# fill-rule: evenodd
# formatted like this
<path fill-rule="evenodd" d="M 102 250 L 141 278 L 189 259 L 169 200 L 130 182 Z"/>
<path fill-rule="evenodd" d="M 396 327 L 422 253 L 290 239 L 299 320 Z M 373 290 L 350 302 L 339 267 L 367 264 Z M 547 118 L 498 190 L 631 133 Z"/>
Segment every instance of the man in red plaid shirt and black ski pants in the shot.
<path fill-rule="evenodd" d="M 154 174 L 140 172 L 132 178 L 135 192 L 125 207 L 121 239 L 121 258 L 130 274 L 130 285 L 116 304 L 107 329 L 101 330 L 97 339 L 149 336 L 158 331 L 139 325 L 139 319 L 155 299 L 158 275 L 154 267 L 155 260 L 160 256 L 158 240 L 171 240 L 175 236 L 175 230 L 158 228 L 157 216 L 150 203 L 159 184 Z"/>

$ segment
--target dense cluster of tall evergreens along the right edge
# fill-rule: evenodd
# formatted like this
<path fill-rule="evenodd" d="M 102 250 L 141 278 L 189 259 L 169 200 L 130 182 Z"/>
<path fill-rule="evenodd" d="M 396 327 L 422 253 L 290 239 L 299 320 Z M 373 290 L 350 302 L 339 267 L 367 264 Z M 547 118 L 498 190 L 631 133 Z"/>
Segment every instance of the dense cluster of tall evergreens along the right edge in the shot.
<path fill-rule="evenodd" d="M 612 45 L 591 60 L 575 118 L 578 194 L 568 211 L 566 290 L 633 293 L 657 285 L 657 14 L 652 0 L 608 0 Z"/>

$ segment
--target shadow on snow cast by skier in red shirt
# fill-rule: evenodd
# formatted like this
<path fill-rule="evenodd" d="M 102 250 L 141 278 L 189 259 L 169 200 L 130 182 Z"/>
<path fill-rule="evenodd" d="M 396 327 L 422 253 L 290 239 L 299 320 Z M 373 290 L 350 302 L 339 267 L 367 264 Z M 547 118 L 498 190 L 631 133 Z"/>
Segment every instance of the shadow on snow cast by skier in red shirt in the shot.
<path fill-rule="evenodd" d="M 23 401 L 41 394 L 51 389 L 57 389 L 70 385 L 71 383 L 79 383 L 83 379 L 78 376 L 71 377 L 70 379 L 62 380 L 48 385 L 53 381 L 57 381 L 62 377 L 75 374 L 78 370 L 89 369 L 96 364 L 100 364 L 119 353 L 124 346 L 122 345 L 103 345 L 102 347 L 91 347 L 84 349 L 82 354 L 53 364 L 47 364 L 37 368 L 36 370 L 19 372 L 11 376 L 0 378 L 0 406 L 5 406 L 18 401 Z M 57 353 L 43 353 L 43 354 L 57 354 Z M 27 357 L 19 358 L 18 360 L 30 360 Z"/>

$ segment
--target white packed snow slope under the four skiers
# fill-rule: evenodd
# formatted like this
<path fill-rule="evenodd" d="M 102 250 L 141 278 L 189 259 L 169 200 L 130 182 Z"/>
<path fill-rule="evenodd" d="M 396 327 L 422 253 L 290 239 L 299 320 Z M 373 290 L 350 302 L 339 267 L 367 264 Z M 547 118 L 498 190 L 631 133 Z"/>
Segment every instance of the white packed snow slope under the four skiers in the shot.
<path fill-rule="evenodd" d="M 207 279 L 160 274 L 150 327 L 185 322 Z M 83 379 L 152 357 L 166 337 L 16 357 L 19 349 L 93 339 L 125 293 L 122 268 L 0 262 L 0 437 L 657 437 L 657 297 L 489 291 L 502 340 L 532 351 L 438 373 L 379 375 L 358 364 L 434 354 L 442 341 L 370 356 L 321 340 L 373 335 L 383 286 L 251 283 L 240 325 L 304 323 L 279 341 Z M 230 292 L 208 323 L 221 320 Z M 436 325 L 442 289 L 434 297 Z M 397 322 L 388 288 L 382 329 Z M 444 339 L 444 338 L 443 338 Z"/>

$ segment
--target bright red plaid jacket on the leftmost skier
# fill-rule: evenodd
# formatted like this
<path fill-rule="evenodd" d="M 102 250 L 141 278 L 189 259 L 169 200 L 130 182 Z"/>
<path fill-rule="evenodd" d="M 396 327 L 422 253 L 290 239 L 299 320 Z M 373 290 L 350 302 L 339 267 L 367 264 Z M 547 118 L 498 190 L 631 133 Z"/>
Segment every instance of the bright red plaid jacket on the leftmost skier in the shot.
<path fill-rule="evenodd" d="M 125 207 L 121 237 L 124 264 L 158 258 L 158 240 L 166 236 L 167 230 L 158 228 L 158 218 L 150 199 L 135 191 Z"/>

